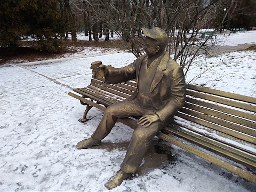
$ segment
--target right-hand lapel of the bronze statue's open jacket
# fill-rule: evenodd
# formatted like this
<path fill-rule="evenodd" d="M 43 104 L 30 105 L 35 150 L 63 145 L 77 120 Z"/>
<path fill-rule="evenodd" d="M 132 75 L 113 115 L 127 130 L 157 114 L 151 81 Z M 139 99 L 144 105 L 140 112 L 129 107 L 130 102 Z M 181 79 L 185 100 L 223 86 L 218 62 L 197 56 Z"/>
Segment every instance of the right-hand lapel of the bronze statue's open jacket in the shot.
<path fill-rule="evenodd" d="M 155 89 L 155 87 L 158 85 L 158 83 L 163 78 L 163 70 L 167 67 L 167 62 L 169 60 L 169 54 L 165 52 L 164 56 L 162 57 L 157 69 L 155 76 L 153 77 L 153 82 L 150 87 L 150 93 Z"/>

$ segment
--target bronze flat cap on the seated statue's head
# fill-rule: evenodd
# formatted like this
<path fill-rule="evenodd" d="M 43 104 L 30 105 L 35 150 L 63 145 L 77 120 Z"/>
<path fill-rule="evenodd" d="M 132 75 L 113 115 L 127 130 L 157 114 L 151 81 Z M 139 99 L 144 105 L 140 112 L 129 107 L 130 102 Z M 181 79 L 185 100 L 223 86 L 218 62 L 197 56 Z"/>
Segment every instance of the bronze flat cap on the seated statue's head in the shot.
<path fill-rule="evenodd" d="M 143 34 L 145 34 L 147 37 L 156 39 L 160 43 L 166 44 L 168 42 L 168 36 L 165 30 L 162 28 L 154 27 L 152 29 L 148 29 L 142 27 L 141 30 L 143 31 Z"/>

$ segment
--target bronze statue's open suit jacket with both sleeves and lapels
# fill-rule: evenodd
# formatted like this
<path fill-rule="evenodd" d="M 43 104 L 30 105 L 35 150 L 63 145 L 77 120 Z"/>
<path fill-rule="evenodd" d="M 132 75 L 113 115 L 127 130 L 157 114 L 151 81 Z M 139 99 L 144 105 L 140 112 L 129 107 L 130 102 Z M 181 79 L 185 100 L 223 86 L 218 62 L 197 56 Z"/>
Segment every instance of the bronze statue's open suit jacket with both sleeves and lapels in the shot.
<path fill-rule="evenodd" d="M 141 77 L 139 74 L 142 60 L 146 55 L 137 58 L 129 66 L 119 69 L 109 69 L 105 77 L 106 83 L 116 84 L 120 82 L 137 79 L 137 84 Z M 182 68 L 164 52 L 159 57 L 159 65 L 153 82 L 150 87 L 150 99 L 153 103 L 154 112 L 158 115 L 163 124 L 172 121 L 174 114 L 184 105 L 186 97 L 186 85 Z M 141 85 L 140 85 L 141 86 Z M 130 98 L 133 100 L 138 95 L 138 86 Z"/>

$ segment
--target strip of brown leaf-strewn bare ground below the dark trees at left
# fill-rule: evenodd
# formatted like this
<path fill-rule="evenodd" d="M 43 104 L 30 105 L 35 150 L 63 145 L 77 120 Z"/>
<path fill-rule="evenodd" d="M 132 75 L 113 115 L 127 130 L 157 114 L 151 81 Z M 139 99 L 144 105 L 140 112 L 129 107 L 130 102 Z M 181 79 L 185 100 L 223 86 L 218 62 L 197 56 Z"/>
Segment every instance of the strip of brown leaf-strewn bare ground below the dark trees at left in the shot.
<path fill-rule="evenodd" d="M 70 40 L 63 40 L 61 43 L 63 48 L 56 53 L 38 50 L 37 43 L 35 41 L 20 41 L 19 47 L 15 47 L 15 49 L 10 49 L 10 47 L 0 47 L 0 65 L 4 65 L 5 63 L 10 62 L 19 63 L 63 58 L 67 53 L 76 53 L 80 47 L 101 47 L 106 49 L 125 50 L 125 46 L 122 40 L 112 40 L 109 42 L 95 42 L 85 40 L 78 40 L 77 42 L 73 42 Z M 73 49 L 68 49 L 68 47 L 73 47 Z"/>

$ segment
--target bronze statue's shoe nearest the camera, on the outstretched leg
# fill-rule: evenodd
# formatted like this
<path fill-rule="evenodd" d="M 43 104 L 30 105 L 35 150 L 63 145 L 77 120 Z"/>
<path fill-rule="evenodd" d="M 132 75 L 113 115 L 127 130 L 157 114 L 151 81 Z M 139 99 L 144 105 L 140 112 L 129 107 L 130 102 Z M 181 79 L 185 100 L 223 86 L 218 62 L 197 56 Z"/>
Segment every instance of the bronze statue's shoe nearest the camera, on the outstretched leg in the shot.
<path fill-rule="evenodd" d="M 108 182 L 105 184 L 105 187 L 107 189 L 113 189 L 123 182 L 123 180 L 129 178 L 131 176 L 131 173 L 125 173 L 122 170 L 119 170 L 116 172 L 114 176 L 112 176 Z"/>

